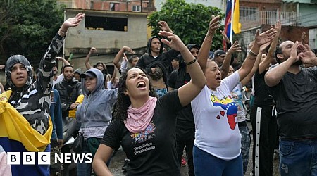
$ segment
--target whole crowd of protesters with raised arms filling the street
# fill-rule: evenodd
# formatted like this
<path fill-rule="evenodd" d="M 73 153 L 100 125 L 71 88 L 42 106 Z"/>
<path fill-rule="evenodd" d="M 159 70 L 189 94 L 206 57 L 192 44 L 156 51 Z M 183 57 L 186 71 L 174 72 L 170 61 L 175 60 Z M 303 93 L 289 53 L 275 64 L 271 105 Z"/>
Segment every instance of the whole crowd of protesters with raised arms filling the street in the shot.
<path fill-rule="evenodd" d="M 74 69 L 57 57 L 67 30 L 85 13 L 69 18 L 34 67 L 22 55 L 6 61 L 6 85 L 0 96 L 0 175 L 61 175 L 62 163 L 6 165 L 7 152 L 61 154 L 63 126 L 75 122 L 82 136 L 77 175 L 111 175 L 116 151 L 125 152 L 127 175 L 245 175 L 251 141 L 251 175 L 273 175 L 273 154 L 280 153 L 280 175 L 316 175 L 317 57 L 308 44 L 283 41 L 281 24 L 256 31 L 243 63 L 242 48 L 220 31 L 212 16 L 202 44 L 184 44 L 168 23 L 137 56 L 123 46 L 109 73 L 103 62 Z M 213 49 L 216 32 L 228 50 Z M 170 48 L 168 50 L 164 48 Z M 213 56 L 210 50 L 215 51 Z M 127 55 L 130 55 L 128 58 Z M 61 61 L 58 75 L 56 61 Z M 117 76 L 117 74 L 120 74 Z M 251 85 L 251 129 L 247 126 L 244 86 Z M 185 152 L 185 154 L 184 154 Z"/>

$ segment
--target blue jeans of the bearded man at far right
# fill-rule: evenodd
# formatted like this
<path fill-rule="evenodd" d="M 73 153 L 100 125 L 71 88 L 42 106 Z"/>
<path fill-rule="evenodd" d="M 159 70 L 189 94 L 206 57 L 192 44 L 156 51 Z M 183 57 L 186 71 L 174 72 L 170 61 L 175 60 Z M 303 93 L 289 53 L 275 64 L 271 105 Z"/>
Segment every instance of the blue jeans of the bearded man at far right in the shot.
<path fill-rule="evenodd" d="M 280 175 L 317 175 L 317 139 L 280 140 Z"/>

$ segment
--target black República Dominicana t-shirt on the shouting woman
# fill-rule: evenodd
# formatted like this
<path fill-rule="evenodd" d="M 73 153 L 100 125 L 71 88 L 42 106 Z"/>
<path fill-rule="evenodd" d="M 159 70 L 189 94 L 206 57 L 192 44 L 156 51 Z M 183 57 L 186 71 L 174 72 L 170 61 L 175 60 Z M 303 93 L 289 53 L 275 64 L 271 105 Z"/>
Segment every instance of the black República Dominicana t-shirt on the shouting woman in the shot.
<path fill-rule="evenodd" d="M 178 91 L 168 92 L 156 102 L 146 130 L 131 133 L 122 120 L 113 120 L 101 144 L 123 151 L 130 159 L 128 175 L 180 175 L 175 148 L 175 118 L 182 108 Z"/>

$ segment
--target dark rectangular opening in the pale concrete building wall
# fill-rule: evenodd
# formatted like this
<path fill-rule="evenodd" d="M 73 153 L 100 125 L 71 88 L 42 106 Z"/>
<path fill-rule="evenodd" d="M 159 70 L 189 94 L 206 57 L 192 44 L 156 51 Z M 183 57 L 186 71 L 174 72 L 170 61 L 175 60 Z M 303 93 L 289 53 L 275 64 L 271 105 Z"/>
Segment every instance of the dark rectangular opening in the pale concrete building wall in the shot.
<path fill-rule="evenodd" d="M 86 16 L 86 30 L 127 31 L 128 18 L 113 18 L 101 16 Z"/>

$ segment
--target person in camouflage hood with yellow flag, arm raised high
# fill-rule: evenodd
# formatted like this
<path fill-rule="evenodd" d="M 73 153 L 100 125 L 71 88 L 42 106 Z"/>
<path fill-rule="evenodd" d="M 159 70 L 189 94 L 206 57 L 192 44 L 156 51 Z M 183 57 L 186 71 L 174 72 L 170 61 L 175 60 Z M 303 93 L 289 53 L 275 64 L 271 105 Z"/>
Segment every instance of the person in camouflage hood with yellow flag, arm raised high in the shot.
<path fill-rule="evenodd" d="M 79 25 L 85 17 L 78 13 L 68 18 L 52 39 L 39 62 L 37 80 L 32 83 L 31 64 L 22 55 L 13 55 L 6 61 L 6 82 L 11 87 L 1 94 L 0 145 L 6 152 L 51 151 L 52 124 L 49 117 L 52 68 L 63 46 L 68 28 Z M 49 165 L 41 165 L 35 153 L 33 165 L 11 165 L 12 175 L 49 175 Z"/>

